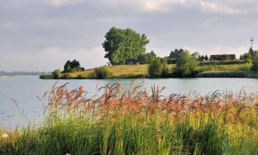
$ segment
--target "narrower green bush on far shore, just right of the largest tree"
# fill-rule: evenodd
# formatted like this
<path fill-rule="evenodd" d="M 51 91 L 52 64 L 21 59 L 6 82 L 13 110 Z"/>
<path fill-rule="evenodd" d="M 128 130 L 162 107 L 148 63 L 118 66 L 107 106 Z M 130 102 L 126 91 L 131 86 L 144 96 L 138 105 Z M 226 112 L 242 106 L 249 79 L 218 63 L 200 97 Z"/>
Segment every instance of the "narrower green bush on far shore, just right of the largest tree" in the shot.
<path fill-rule="evenodd" d="M 149 63 L 149 76 L 157 77 L 157 76 L 160 76 L 161 72 L 162 72 L 162 64 L 160 59 L 158 58 L 151 59 L 151 62 Z"/>

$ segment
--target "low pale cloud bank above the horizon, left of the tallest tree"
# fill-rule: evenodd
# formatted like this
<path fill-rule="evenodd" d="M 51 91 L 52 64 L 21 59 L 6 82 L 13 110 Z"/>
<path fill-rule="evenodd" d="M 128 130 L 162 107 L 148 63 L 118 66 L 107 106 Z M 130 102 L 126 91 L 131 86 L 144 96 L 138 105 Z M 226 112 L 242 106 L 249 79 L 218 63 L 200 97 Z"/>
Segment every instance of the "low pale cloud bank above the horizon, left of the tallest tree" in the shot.
<path fill-rule="evenodd" d="M 15 56 L 14 56 L 15 55 Z M 61 49 L 45 48 L 41 52 L 6 53 L 0 57 L 0 70 L 25 70 L 25 71 L 52 71 L 56 68 L 63 69 L 67 60 L 77 59 L 84 68 L 95 68 L 105 65 L 108 61 L 104 58 L 103 48 L 92 49 Z M 12 66 L 9 61 L 12 60 Z M 16 66 L 16 68 L 14 68 Z"/>

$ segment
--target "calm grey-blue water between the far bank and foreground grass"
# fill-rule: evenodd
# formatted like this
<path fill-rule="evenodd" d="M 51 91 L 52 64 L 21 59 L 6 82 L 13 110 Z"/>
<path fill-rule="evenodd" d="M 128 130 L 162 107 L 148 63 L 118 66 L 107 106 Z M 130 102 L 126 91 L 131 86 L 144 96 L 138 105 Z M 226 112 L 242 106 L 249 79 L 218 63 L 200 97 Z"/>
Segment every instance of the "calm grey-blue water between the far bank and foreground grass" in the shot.
<path fill-rule="evenodd" d="M 96 92 L 96 84 L 122 83 L 129 87 L 131 79 L 110 80 L 41 80 L 38 76 L 14 76 L 0 77 L 0 127 L 15 127 L 28 125 L 28 121 L 38 123 L 42 120 L 42 103 L 36 98 L 50 90 L 54 83 L 58 85 L 69 83 L 69 88 L 80 85 L 85 87 L 90 94 Z M 140 83 L 140 80 L 137 81 Z M 196 91 L 199 94 L 207 94 L 219 90 L 220 92 L 239 92 L 244 89 L 249 93 L 258 90 L 258 79 L 145 79 L 144 88 L 148 91 L 151 85 L 166 87 L 164 95 L 188 94 Z M 17 105 L 12 101 L 17 101 Z"/>

